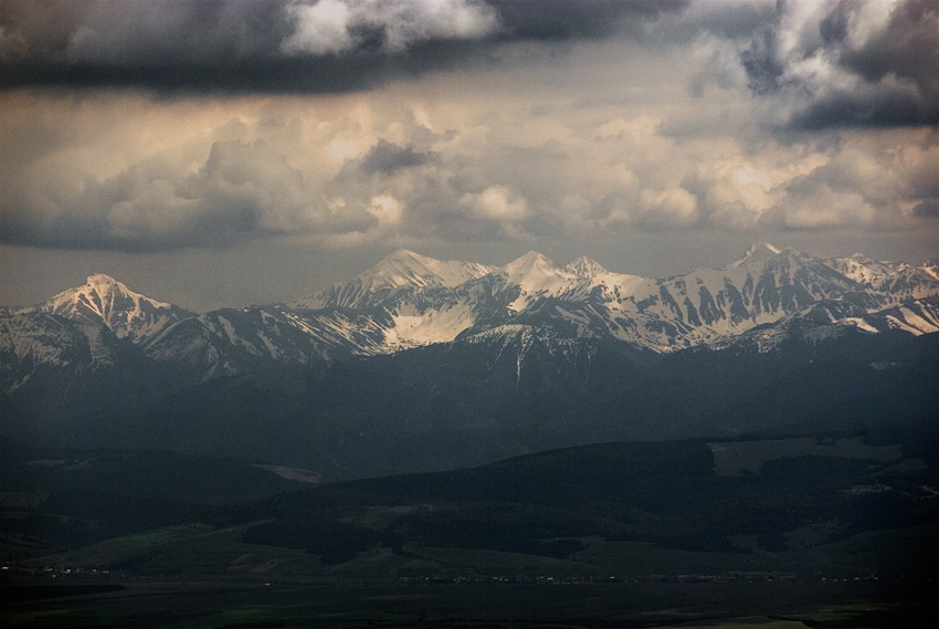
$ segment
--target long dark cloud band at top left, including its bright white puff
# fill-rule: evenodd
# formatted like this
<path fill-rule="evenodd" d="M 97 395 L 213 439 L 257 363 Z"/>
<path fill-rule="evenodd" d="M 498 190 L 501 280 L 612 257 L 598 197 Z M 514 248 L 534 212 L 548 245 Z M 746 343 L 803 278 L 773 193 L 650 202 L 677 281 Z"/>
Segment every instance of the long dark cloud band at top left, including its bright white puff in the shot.
<path fill-rule="evenodd" d="M 603 36 L 683 4 L 0 0 L 0 88 L 344 92 L 483 59 L 513 41 Z"/>

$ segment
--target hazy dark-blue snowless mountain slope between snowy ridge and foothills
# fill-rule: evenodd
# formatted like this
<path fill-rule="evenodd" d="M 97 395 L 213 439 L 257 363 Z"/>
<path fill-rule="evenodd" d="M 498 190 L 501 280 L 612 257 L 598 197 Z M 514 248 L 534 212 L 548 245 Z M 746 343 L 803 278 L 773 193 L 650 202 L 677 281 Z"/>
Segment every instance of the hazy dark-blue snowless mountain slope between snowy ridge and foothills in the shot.
<path fill-rule="evenodd" d="M 611 440 L 935 422 L 939 334 L 840 329 L 821 340 L 793 335 L 772 352 L 703 346 L 646 366 L 595 338 L 513 324 L 391 355 L 219 377 L 67 421 L 27 415 L 15 422 L 27 432 L 13 436 L 236 457 L 337 480 Z"/>

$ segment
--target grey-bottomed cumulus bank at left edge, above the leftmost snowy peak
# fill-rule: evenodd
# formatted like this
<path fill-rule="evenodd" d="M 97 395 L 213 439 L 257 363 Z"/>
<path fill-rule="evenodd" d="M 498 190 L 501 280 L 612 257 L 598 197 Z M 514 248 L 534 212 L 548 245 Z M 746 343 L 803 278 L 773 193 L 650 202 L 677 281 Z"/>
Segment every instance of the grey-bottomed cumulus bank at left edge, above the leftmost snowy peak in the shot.
<path fill-rule="evenodd" d="M 327 208 L 307 178 L 263 140 L 215 141 L 196 172 L 146 160 L 107 178 L 52 184 L 11 187 L 0 213 L 4 242 L 167 250 L 365 230 L 383 220 L 366 208 Z"/>

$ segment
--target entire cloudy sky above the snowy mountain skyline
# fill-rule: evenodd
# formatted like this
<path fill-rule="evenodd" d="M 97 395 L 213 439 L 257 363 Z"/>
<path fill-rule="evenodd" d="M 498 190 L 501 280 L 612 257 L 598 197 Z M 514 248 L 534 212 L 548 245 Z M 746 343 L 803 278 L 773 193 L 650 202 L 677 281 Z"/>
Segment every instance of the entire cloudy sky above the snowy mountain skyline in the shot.
<path fill-rule="evenodd" d="M 939 256 L 939 0 L 0 0 L 0 304 Z"/>

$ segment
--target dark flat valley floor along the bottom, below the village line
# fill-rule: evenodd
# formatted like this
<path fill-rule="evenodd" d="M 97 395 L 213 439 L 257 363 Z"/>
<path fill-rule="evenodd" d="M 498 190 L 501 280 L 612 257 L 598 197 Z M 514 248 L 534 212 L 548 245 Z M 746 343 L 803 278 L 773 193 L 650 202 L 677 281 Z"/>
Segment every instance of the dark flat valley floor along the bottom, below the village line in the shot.
<path fill-rule="evenodd" d="M 926 627 L 931 581 L 346 584 L 63 578 L 3 583 L 0 623 L 34 627 Z M 42 585 L 38 585 L 41 583 Z M 118 584 L 107 584 L 118 585 Z M 48 590 L 48 591 L 43 591 Z M 44 597 L 49 598 L 44 598 Z"/>

